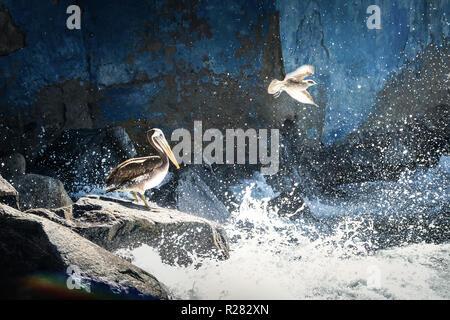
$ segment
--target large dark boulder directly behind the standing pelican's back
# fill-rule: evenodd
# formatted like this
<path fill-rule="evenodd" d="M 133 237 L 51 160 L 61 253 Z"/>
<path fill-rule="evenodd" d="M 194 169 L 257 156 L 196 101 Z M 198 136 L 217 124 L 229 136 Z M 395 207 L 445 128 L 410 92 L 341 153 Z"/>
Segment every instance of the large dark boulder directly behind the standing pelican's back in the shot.
<path fill-rule="evenodd" d="M 121 127 L 66 130 L 35 161 L 34 171 L 60 179 L 69 192 L 103 186 L 111 168 L 136 156 Z"/>

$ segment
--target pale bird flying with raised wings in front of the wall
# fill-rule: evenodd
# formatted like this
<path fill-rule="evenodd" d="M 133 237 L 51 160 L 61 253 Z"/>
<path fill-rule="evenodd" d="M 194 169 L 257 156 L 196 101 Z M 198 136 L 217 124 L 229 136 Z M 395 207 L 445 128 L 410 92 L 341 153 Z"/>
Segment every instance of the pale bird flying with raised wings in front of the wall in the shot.
<path fill-rule="evenodd" d="M 314 80 L 304 80 L 313 74 L 313 66 L 303 65 L 294 72 L 288 73 L 283 81 L 272 80 L 269 88 L 267 88 L 267 92 L 273 94 L 275 98 L 278 98 L 281 92 L 286 91 L 292 98 L 301 103 L 317 106 L 309 92 L 306 91 L 309 87 L 317 83 Z"/>

